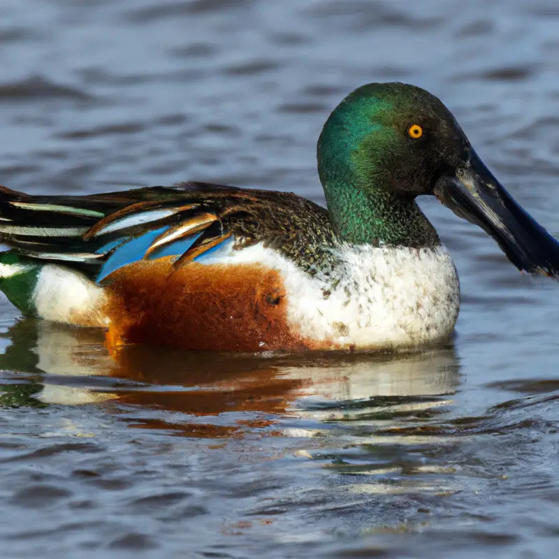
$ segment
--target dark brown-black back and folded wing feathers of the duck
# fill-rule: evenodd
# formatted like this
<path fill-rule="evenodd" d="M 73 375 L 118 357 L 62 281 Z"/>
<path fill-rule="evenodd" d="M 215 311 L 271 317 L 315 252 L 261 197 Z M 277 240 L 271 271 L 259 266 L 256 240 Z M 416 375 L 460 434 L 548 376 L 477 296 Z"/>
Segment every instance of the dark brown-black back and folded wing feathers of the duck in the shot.
<path fill-rule="evenodd" d="M 184 182 L 88 196 L 29 196 L 0 187 L 0 243 L 29 259 L 96 277 L 110 254 L 166 228 L 147 250 L 199 235 L 177 266 L 228 238 L 263 242 L 307 270 L 324 268 L 336 243 L 328 212 L 292 193 Z"/>

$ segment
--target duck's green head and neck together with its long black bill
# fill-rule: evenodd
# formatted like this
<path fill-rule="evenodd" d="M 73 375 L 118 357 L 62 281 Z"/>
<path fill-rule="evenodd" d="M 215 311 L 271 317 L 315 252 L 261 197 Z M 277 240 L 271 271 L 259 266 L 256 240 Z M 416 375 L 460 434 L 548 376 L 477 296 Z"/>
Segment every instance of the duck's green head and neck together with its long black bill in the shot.
<path fill-rule="evenodd" d="M 317 159 L 344 240 L 435 244 L 437 235 L 414 202 L 430 194 L 484 228 L 521 270 L 559 275 L 559 243 L 511 198 L 452 113 L 424 89 L 359 87 L 324 124 Z"/>

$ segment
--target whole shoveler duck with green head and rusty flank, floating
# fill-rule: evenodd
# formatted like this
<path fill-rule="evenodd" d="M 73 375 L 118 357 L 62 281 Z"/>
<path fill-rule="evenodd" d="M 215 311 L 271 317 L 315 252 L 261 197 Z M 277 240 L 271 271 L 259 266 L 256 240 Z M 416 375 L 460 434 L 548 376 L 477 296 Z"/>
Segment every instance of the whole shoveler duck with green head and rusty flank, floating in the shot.
<path fill-rule="evenodd" d="M 435 96 L 372 83 L 318 142 L 328 210 L 296 194 L 187 182 L 91 196 L 0 191 L 0 289 L 22 313 L 112 342 L 263 351 L 444 340 L 451 257 L 418 205 L 434 195 L 514 265 L 559 275 L 559 243 L 499 184 Z"/>

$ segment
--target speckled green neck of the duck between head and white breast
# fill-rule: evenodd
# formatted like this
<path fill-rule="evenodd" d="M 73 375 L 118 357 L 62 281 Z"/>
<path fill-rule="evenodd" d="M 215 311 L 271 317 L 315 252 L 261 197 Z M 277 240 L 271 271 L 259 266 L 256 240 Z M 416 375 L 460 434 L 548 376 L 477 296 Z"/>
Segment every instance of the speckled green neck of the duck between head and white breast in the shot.
<path fill-rule="evenodd" d="M 355 245 L 433 247 L 440 245 L 435 228 L 414 198 L 380 190 L 365 194 L 355 182 L 322 177 L 326 203 L 341 240 Z"/>

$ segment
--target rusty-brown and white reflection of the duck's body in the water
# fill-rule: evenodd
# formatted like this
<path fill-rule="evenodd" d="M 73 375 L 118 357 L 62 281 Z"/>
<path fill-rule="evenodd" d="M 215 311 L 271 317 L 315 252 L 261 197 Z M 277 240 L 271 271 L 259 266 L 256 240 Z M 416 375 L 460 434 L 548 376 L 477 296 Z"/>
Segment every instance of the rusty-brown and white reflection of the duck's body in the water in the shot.
<path fill-rule="evenodd" d="M 393 425 L 448 403 L 459 382 L 451 345 L 396 355 L 109 351 L 99 330 L 31 320 L 5 336 L 10 345 L 0 366 L 34 375 L 36 400 L 104 402 L 131 426 L 195 437 L 242 436 L 254 428 L 309 437 L 340 421 Z"/>

